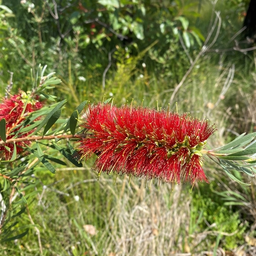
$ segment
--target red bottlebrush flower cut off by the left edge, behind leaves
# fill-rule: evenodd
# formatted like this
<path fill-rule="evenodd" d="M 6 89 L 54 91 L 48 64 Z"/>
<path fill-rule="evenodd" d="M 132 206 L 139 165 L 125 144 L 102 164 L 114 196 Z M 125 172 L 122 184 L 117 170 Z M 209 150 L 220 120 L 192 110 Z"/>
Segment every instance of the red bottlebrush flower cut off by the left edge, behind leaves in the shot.
<path fill-rule="evenodd" d="M 26 109 L 23 112 L 25 105 L 26 105 Z M 29 113 L 42 108 L 42 106 L 43 106 L 42 102 L 39 102 L 37 100 L 37 97 L 36 99 L 33 99 L 33 98 L 28 99 L 28 95 L 23 91 L 20 91 L 19 94 L 17 95 L 11 95 L 7 99 L 3 99 L 2 103 L 0 104 L 0 120 L 2 120 L 3 118 L 5 118 L 6 120 L 6 139 L 9 140 L 13 136 L 17 135 L 16 133 L 21 128 L 19 124 L 22 121 L 24 121 L 24 119 L 26 118 L 26 116 L 28 116 Z M 27 137 L 33 131 L 34 130 L 30 130 L 28 132 L 21 133 L 19 134 L 18 137 L 19 138 Z M 30 144 L 30 141 L 16 143 L 17 154 L 20 154 L 23 151 L 21 147 L 24 147 L 25 144 Z M 12 143 L 7 143 L 4 146 L 3 145 L 0 146 L 0 151 L 1 151 L 0 157 L 4 157 L 5 160 L 9 160 L 13 153 L 13 147 L 14 146 Z"/>

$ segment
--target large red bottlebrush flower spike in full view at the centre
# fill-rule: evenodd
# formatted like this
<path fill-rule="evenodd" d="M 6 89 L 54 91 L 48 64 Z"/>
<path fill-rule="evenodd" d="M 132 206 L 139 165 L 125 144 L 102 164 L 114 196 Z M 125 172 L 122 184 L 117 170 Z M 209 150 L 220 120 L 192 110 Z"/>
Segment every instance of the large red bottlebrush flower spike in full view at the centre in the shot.
<path fill-rule="evenodd" d="M 89 107 L 86 137 L 78 146 L 79 155 L 98 155 L 93 169 L 164 179 L 166 182 L 205 180 L 201 150 L 216 131 L 199 121 L 149 108 L 117 108 L 99 103 Z"/>

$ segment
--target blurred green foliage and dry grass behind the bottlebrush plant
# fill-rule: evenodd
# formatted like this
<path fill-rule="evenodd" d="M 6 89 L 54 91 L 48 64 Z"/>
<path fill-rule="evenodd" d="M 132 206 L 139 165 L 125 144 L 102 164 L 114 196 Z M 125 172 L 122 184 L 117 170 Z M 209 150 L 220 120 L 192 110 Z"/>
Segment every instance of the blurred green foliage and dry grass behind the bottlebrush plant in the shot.
<path fill-rule="evenodd" d="M 170 102 L 174 109 L 172 93 L 192 65 L 174 100 L 180 113 L 216 123 L 209 145 L 221 146 L 256 130 L 256 54 L 243 51 L 255 43 L 244 33 L 233 38 L 243 28 L 248 6 L 249 0 L 2 0 L 1 96 L 9 71 L 12 92 L 27 91 L 30 69 L 35 75 L 42 63 L 62 80 L 51 94 L 68 100 L 67 116 L 80 102 L 98 102 L 104 94 L 117 105 L 134 98 L 135 105 L 144 99 L 145 106 L 156 107 L 158 100 L 160 107 Z M 207 45 L 216 35 L 214 44 L 193 64 L 209 35 Z M 255 177 L 234 172 L 251 183 L 244 187 L 208 162 L 211 184 L 198 184 L 192 193 L 189 185 L 173 192 L 168 184 L 159 192 L 157 185 L 148 190 L 142 179 L 129 187 L 126 177 L 117 178 L 116 185 L 115 177 L 106 175 L 96 182 L 91 161 L 82 168 L 67 163 L 55 175 L 37 167 L 30 178 L 38 180 L 37 197 L 29 210 L 43 254 L 33 228 L 28 236 L 1 244 L 1 253 L 221 255 L 221 250 L 240 250 L 248 255 L 256 246 Z M 30 223 L 26 217 L 20 221 Z"/>

